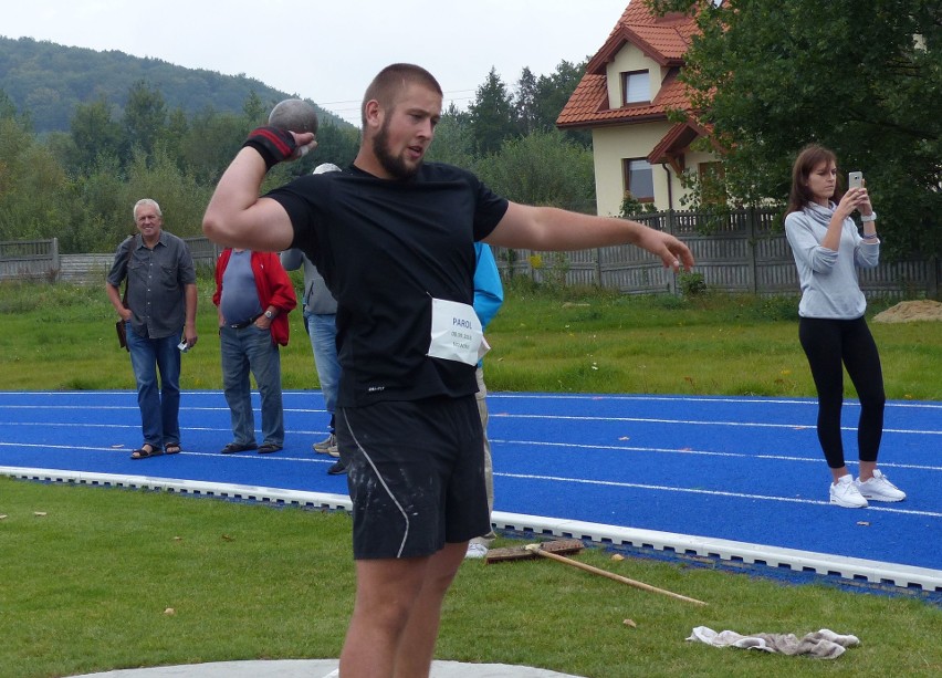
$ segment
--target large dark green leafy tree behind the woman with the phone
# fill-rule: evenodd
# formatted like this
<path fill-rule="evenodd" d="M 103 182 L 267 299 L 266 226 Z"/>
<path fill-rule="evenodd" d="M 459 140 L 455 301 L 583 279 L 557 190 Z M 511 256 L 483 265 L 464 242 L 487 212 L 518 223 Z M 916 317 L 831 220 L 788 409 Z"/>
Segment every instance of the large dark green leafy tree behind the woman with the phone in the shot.
<path fill-rule="evenodd" d="M 655 0 L 697 12 L 682 80 L 714 131 L 734 199 L 784 200 L 816 142 L 862 170 L 890 255 L 942 253 L 938 0 Z"/>

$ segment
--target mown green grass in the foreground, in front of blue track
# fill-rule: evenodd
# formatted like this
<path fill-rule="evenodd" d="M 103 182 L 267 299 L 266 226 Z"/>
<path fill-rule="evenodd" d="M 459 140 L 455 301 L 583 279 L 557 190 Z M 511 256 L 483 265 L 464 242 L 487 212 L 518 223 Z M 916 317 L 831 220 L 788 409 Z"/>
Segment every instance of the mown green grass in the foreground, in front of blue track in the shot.
<path fill-rule="evenodd" d="M 354 595 L 345 514 L 2 478 L 0 514 L 4 678 L 339 655 Z M 709 606 L 551 561 L 467 561 L 437 657 L 593 678 L 942 671 L 942 611 L 918 599 L 599 550 L 578 557 Z M 720 650 L 684 640 L 700 625 L 830 628 L 862 645 L 836 661 Z"/>

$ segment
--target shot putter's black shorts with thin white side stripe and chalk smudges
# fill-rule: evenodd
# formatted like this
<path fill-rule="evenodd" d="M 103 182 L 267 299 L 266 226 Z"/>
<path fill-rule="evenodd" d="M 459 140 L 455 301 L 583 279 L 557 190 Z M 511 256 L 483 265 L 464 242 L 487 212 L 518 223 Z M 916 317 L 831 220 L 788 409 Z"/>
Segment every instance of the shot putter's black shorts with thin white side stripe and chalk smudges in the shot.
<path fill-rule="evenodd" d="M 473 395 L 343 407 L 354 559 L 431 555 L 491 529 Z"/>

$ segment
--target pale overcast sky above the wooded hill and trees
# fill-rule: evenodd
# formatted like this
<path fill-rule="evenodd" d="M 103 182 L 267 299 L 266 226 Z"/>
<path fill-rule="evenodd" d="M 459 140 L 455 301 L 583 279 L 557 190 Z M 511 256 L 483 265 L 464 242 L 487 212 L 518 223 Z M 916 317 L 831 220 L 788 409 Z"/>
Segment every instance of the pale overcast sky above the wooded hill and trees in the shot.
<path fill-rule="evenodd" d="M 628 0 L 25 0 L 0 34 L 118 50 L 244 74 L 359 124 L 366 85 L 399 61 L 427 67 L 464 107 L 491 67 L 512 86 L 608 38 Z M 0 83 L 0 87 L 2 83 Z"/>

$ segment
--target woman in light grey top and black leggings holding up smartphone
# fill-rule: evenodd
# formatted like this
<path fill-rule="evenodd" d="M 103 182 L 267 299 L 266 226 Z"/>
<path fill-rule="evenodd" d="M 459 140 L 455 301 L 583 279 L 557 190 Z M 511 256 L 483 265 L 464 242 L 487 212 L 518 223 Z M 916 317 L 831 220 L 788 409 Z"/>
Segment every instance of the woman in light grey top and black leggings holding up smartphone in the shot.
<path fill-rule="evenodd" d="M 850 217 L 855 211 L 860 212 L 862 234 Z M 818 393 L 817 431 L 831 472 L 830 503 L 845 508 L 906 499 L 877 468 L 886 396 L 880 355 L 864 317 L 867 301 L 857 279 L 858 268 L 872 269 L 880 261 L 876 220 L 862 181 L 838 194 L 833 152 L 818 145 L 802 150 L 792 168 L 785 234 L 802 285 L 798 337 Z M 857 480 L 845 465 L 840 436 L 844 367 L 860 400 Z"/>

